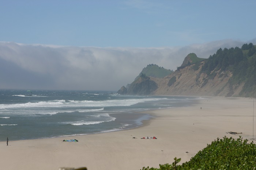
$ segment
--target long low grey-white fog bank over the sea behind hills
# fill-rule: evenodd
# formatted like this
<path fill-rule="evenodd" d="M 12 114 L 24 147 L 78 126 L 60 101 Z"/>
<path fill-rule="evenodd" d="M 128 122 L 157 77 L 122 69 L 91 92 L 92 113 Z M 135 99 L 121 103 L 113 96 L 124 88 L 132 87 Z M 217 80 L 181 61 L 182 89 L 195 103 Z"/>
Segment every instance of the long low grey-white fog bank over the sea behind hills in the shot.
<path fill-rule="evenodd" d="M 0 42 L 0 89 L 114 90 L 131 83 L 148 64 L 176 70 L 189 53 L 208 58 L 219 40 L 185 47 L 66 47 Z"/>

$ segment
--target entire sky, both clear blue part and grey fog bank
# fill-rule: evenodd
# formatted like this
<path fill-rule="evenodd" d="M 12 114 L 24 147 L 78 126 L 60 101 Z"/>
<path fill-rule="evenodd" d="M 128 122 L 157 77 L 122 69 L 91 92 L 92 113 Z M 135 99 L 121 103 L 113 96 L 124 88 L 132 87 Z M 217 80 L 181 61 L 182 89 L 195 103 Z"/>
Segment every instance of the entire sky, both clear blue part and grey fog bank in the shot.
<path fill-rule="evenodd" d="M 0 89 L 118 90 L 256 44 L 255 0 L 0 0 Z"/>

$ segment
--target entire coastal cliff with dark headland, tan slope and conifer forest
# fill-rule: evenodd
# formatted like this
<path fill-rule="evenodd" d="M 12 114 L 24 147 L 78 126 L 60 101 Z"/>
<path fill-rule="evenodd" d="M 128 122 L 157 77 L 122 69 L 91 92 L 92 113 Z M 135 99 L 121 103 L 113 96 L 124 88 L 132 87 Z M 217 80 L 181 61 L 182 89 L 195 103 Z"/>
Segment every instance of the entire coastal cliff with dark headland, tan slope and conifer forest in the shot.
<path fill-rule="evenodd" d="M 177 70 L 163 78 L 138 80 L 120 94 L 251 97 L 256 88 L 256 46 L 219 49 L 208 59 L 190 53 Z M 251 50 L 251 52 L 250 52 Z"/>

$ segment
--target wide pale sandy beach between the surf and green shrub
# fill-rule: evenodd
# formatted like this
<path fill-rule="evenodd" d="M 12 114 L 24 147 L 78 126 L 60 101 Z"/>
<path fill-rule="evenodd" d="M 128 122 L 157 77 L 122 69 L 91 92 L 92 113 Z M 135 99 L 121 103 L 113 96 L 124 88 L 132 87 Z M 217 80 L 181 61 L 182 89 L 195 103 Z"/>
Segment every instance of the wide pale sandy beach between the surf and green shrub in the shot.
<path fill-rule="evenodd" d="M 12 141 L 8 136 L 9 146 L 6 142 L 0 143 L 0 169 L 87 167 L 88 170 L 139 170 L 143 166 L 159 167 L 159 164 L 172 163 L 175 157 L 181 158 L 181 162 L 189 161 L 217 138 L 253 137 L 252 98 L 209 97 L 189 107 L 147 113 L 154 118 L 132 130 L 21 141 Z M 242 134 L 226 133 L 230 131 Z M 140 139 L 147 136 L 157 139 Z M 64 139 L 79 142 L 63 142 Z"/>

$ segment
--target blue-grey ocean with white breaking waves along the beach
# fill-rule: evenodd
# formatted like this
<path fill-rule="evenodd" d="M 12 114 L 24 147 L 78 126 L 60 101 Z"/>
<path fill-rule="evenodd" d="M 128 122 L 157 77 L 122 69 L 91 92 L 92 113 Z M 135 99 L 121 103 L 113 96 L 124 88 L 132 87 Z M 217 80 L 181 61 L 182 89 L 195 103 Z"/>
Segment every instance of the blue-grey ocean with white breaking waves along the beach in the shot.
<path fill-rule="evenodd" d="M 111 91 L 0 90 L 0 141 L 131 129 L 152 118 L 141 111 L 186 107 L 199 98 Z"/>

